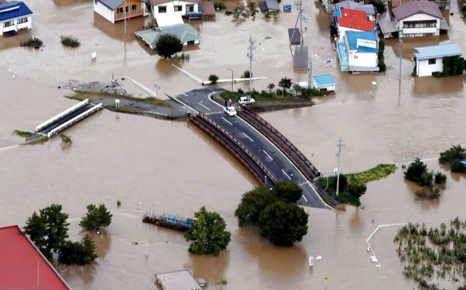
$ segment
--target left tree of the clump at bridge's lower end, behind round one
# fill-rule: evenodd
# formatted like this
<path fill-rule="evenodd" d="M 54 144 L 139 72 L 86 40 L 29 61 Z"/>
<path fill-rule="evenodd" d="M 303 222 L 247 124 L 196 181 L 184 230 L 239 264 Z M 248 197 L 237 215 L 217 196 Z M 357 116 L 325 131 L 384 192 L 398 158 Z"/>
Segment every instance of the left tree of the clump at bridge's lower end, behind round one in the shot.
<path fill-rule="evenodd" d="M 240 227 L 245 225 L 257 225 L 259 216 L 264 208 L 276 200 L 268 186 L 254 188 L 243 194 L 234 216 L 238 218 Z"/>

